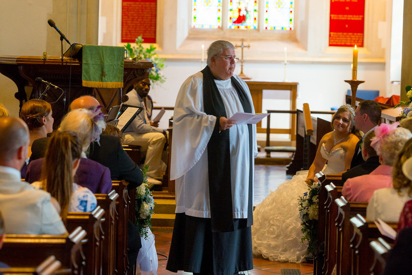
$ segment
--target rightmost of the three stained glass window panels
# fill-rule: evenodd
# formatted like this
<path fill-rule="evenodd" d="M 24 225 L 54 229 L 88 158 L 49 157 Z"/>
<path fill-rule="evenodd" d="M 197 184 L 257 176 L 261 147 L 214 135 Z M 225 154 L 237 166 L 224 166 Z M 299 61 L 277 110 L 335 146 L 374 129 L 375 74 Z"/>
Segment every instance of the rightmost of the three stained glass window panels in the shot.
<path fill-rule="evenodd" d="M 292 0 L 265 0 L 264 28 L 292 30 L 295 4 Z"/>

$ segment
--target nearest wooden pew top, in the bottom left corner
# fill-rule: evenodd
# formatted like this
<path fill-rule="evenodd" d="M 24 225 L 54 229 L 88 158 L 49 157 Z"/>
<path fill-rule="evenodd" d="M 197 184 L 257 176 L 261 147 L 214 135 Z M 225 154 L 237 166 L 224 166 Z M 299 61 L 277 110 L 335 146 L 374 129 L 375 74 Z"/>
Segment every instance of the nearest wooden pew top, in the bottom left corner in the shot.
<path fill-rule="evenodd" d="M 49 256 L 44 260 L 38 267 L 11 267 L 11 268 L 0 268 L 0 273 L 3 275 L 70 275 L 72 271 L 70 269 L 60 269 L 61 262 L 56 260 L 56 257 Z"/>

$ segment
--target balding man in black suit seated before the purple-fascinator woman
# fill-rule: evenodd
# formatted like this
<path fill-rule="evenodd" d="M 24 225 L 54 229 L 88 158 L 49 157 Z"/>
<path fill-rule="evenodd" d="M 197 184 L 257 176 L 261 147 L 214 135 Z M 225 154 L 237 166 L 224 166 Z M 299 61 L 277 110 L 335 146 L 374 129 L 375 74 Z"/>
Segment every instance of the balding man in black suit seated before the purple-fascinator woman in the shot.
<path fill-rule="evenodd" d="M 98 106 L 100 106 L 100 103 L 96 98 L 92 96 L 82 96 L 70 104 L 70 110 L 95 110 Z M 48 140 L 48 138 L 40 138 L 33 142 L 30 161 L 44 157 Z M 87 158 L 108 167 L 112 181 L 127 181 L 129 183 L 129 190 L 140 186 L 143 182 L 142 170 L 130 159 L 126 151 L 123 150 L 119 138 L 101 135 L 99 143 L 94 141 L 90 144 Z"/>

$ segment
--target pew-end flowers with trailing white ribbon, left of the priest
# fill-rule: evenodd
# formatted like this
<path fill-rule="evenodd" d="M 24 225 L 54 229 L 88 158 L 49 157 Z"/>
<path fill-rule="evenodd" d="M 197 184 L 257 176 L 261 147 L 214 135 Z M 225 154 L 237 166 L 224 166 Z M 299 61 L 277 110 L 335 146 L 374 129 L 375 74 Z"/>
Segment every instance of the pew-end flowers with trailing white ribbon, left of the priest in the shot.
<path fill-rule="evenodd" d="M 136 220 L 139 229 L 142 248 L 137 255 L 136 265 L 140 267 L 142 275 L 157 274 L 157 252 L 154 247 L 154 234 L 150 230 L 152 215 L 154 214 L 154 200 L 147 184 L 147 165 L 143 168 L 143 183 L 136 188 Z"/>

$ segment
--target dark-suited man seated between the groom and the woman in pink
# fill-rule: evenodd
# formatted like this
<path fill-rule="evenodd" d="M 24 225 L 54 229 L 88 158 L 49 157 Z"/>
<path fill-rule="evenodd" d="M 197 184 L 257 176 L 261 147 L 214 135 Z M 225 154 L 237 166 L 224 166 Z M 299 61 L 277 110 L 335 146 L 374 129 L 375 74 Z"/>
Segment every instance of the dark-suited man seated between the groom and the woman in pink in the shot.
<path fill-rule="evenodd" d="M 342 183 L 344 184 L 346 180 L 354 177 L 358 177 L 361 175 L 367 175 L 380 165 L 379 157 L 376 154 L 375 149 L 370 146 L 370 139 L 375 137 L 375 132 L 372 130 L 368 132 L 365 137 L 363 138 L 361 155 L 364 163 L 361 163 L 358 166 L 355 166 L 342 174 Z"/>

